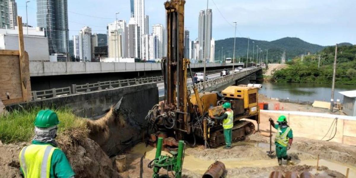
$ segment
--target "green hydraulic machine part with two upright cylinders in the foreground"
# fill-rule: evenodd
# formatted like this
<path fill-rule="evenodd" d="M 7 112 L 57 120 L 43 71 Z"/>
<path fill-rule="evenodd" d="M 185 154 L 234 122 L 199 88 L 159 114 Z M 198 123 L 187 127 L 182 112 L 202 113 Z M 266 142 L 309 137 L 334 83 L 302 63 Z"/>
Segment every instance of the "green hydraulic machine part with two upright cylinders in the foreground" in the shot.
<path fill-rule="evenodd" d="M 157 141 L 157 150 L 155 159 L 153 159 L 149 164 L 149 168 L 153 168 L 152 178 L 169 178 L 169 175 L 159 175 L 159 169 L 163 168 L 172 172 L 172 175 L 175 178 L 182 177 L 182 167 L 183 167 L 183 160 L 184 160 L 184 147 L 185 143 L 183 140 L 179 140 L 178 142 L 178 152 L 177 151 L 170 151 L 172 157 L 168 155 L 161 155 L 162 151 L 162 142 L 163 138 L 158 137 Z M 175 174 L 173 174 L 175 172 Z"/>

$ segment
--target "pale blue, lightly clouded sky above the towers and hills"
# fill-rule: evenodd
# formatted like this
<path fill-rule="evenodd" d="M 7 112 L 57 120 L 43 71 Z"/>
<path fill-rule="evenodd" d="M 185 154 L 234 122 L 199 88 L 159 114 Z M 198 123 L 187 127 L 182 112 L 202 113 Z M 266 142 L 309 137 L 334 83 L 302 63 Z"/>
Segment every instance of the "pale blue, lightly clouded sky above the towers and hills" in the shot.
<path fill-rule="evenodd" d="M 213 11 L 213 38 L 250 37 L 273 41 L 298 37 L 318 45 L 356 44 L 355 0 L 208 0 Z M 18 15 L 26 22 L 25 0 L 16 0 Z M 165 0 L 145 0 L 145 14 L 152 25 L 165 25 Z M 199 11 L 206 0 L 186 0 L 185 28 L 190 40 L 198 37 Z M 130 19 L 130 0 L 68 0 L 69 38 L 78 35 L 83 26 L 93 32 L 106 33 L 106 25 L 115 20 Z M 36 26 L 36 0 L 28 2 L 28 24 Z"/>

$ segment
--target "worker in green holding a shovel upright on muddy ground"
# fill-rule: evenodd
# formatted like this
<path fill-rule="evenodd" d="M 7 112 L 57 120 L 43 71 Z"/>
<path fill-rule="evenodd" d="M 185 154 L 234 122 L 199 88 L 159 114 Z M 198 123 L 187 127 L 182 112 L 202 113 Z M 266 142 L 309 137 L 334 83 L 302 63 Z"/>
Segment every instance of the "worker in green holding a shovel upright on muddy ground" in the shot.
<path fill-rule="evenodd" d="M 288 164 L 293 164 L 292 158 L 287 155 L 287 150 L 290 149 L 293 142 L 293 131 L 287 124 L 287 117 L 281 115 L 278 117 L 277 123 L 274 124 L 273 120 L 269 118 L 269 123 L 277 129 L 274 144 L 276 145 L 276 156 L 278 158 L 279 166 L 282 165 L 282 158 L 287 160 Z"/>

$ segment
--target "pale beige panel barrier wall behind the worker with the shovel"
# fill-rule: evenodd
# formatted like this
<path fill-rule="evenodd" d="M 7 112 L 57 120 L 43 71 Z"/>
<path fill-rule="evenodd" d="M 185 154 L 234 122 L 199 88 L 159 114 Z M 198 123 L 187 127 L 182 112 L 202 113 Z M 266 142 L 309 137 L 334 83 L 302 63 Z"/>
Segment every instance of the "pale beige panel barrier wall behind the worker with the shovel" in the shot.
<path fill-rule="evenodd" d="M 321 140 L 326 135 L 335 117 L 337 117 L 337 131 L 331 141 L 356 146 L 356 117 L 351 116 L 316 112 L 261 110 L 260 130 L 269 131 L 268 119 L 272 118 L 276 122 L 277 118 L 282 114 L 287 117 L 294 137 L 306 137 L 315 140 Z M 276 130 L 272 129 L 272 131 Z M 332 131 L 331 136 L 334 135 L 334 132 L 335 129 Z M 328 140 L 329 136 L 330 132 L 323 140 Z"/>

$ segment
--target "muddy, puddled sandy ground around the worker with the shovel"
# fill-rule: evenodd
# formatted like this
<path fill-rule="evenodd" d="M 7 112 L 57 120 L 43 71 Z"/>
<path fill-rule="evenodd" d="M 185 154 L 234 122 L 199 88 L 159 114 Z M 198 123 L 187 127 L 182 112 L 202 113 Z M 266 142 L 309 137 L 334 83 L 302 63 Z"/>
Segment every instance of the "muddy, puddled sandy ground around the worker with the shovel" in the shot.
<path fill-rule="evenodd" d="M 260 133 L 249 136 L 246 141 L 233 143 L 233 148 L 224 150 L 205 149 L 202 146 L 186 148 L 183 177 L 201 177 L 210 164 L 221 161 L 226 166 L 225 177 L 264 178 L 272 171 L 286 173 L 288 171 L 298 174 L 308 171 L 316 173 L 316 159 L 319 160 L 319 176 L 316 177 L 345 177 L 346 168 L 350 168 L 350 176 L 356 177 L 356 149 L 353 146 L 340 143 L 310 140 L 308 138 L 295 138 L 288 154 L 292 156 L 294 166 L 278 166 L 276 158 L 270 158 L 269 138 Z M 274 146 L 272 146 L 274 150 Z M 136 145 L 127 155 L 127 171 L 120 173 L 122 177 L 151 177 L 152 169 L 147 164 L 155 156 L 156 149 L 146 147 L 143 143 Z M 162 155 L 168 154 L 163 152 Z M 165 173 L 166 170 L 161 170 Z"/>

